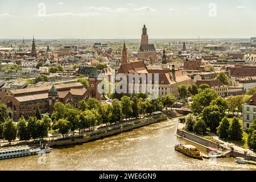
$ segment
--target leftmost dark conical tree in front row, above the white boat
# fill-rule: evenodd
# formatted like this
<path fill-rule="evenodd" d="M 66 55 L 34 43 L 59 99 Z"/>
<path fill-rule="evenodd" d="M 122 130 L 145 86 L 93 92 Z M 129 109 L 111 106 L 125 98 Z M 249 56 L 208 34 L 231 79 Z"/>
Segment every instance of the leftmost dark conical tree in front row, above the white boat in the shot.
<path fill-rule="evenodd" d="M 16 139 L 17 128 L 14 125 L 13 119 L 8 118 L 3 124 L 3 138 L 8 142 Z"/>

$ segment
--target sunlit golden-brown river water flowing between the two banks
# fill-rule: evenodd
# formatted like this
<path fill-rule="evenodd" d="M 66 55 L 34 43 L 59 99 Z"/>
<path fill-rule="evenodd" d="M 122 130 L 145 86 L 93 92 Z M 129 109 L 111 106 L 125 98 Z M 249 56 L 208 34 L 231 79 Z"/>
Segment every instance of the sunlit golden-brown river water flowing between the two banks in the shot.
<path fill-rule="evenodd" d="M 44 156 L 0 160 L 0 170 L 256 170 L 234 158 L 189 158 L 174 150 L 185 143 L 175 134 L 177 119 L 144 126 L 76 146 L 52 148 Z"/>

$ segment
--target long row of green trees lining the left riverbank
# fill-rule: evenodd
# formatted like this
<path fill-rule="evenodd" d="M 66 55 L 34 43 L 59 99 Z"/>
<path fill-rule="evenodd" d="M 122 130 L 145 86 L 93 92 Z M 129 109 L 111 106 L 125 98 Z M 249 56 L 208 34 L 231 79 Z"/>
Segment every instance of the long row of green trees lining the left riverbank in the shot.
<path fill-rule="evenodd" d="M 65 134 L 75 131 L 94 130 L 96 126 L 113 125 L 120 121 L 141 118 L 154 111 L 162 111 L 164 107 L 171 107 L 176 98 L 172 95 L 158 97 L 156 100 L 147 98 L 146 94 L 133 94 L 132 97 L 123 96 L 121 100 L 114 99 L 111 104 L 101 104 L 94 98 L 82 100 L 77 108 L 70 104 L 56 102 L 51 117 L 42 117 L 37 108 L 34 117 L 28 120 L 23 117 L 18 123 L 7 117 L 7 107 L 0 105 L 0 134 L 3 139 L 11 142 L 17 137 L 20 140 L 46 138 L 49 133 Z"/>

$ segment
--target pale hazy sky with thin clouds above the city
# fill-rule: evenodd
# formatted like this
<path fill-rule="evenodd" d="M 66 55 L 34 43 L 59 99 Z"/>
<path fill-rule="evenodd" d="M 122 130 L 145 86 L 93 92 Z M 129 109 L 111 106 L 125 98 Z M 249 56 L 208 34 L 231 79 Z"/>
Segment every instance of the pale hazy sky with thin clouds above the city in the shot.
<path fill-rule="evenodd" d="M 45 7 L 45 8 L 44 8 Z M 255 0 L 0 0 L 0 38 L 250 38 Z"/>

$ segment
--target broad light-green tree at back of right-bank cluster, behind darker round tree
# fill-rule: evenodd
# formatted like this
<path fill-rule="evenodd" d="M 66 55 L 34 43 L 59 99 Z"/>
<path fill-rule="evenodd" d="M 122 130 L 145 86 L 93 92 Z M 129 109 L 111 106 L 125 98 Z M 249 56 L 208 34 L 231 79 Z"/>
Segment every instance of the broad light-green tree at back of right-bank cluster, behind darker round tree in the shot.
<path fill-rule="evenodd" d="M 192 96 L 191 110 L 195 114 L 200 114 L 203 109 L 210 105 L 212 100 L 216 99 L 218 94 L 212 89 L 201 90 L 195 96 Z M 205 120 L 204 120 L 205 121 Z"/>

